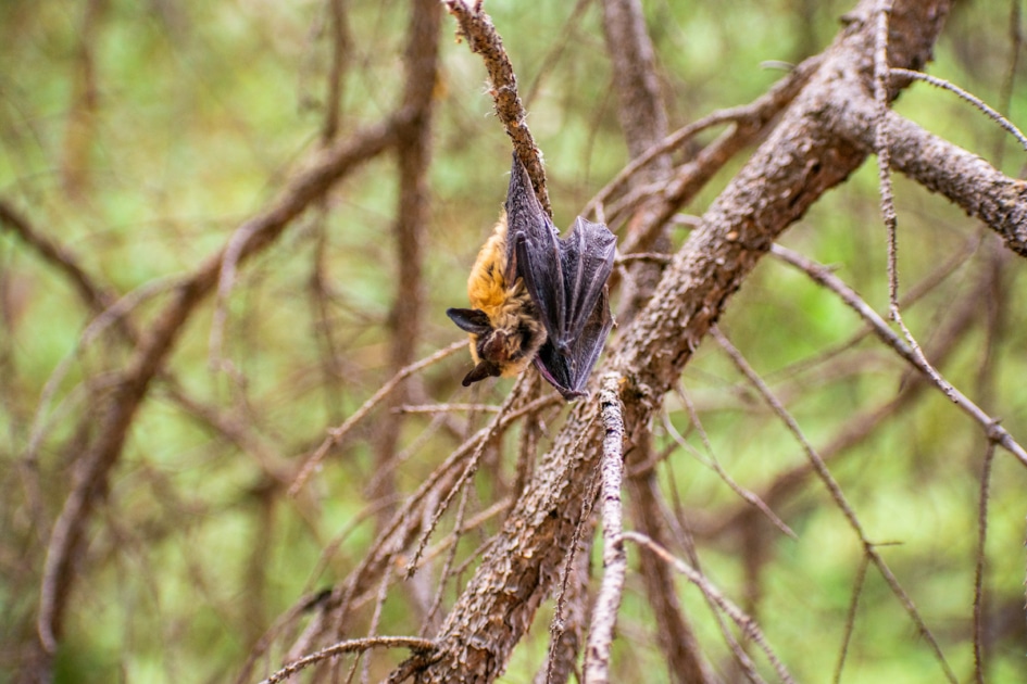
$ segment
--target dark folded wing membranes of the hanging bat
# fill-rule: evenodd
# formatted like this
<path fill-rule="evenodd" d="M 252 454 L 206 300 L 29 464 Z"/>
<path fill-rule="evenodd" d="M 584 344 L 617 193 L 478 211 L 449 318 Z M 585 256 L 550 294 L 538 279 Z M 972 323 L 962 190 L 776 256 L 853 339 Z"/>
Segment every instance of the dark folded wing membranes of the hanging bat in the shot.
<path fill-rule="evenodd" d="M 516 156 L 506 220 L 509 262 L 524 278 L 548 333 L 535 364 L 564 397 L 580 396 L 613 326 L 606 280 L 617 239 L 580 216 L 561 239 Z"/>

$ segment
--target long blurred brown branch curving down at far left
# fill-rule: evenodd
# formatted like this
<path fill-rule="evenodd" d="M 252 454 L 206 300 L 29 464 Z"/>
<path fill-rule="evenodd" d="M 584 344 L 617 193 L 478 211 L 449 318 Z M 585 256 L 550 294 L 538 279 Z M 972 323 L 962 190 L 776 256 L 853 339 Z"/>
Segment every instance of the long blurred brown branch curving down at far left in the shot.
<path fill-rule="evenodd" d="M 303 210 L 323 195 L 340 177 L 375 156 L 394 140 L 397 126 L 406 113 L 360 130 L 318 155 L 297 176 L 272 205 L 248 221 L 258 229 L 240 252 L 240 258 L 271 244 Z M 136 410 L 149 391 L 150 381 L 162 369 L 185 322 L 217 282 L 223 253 L 209 258 L 176 288 L 172 301 L 158 316 L 146 343 L 122 373 L 120 385 L 96 418 L 96 441 L 80 460 L 47 547 L 40 582 L 38 632 L 43 649 L 52 654 L 61 633 L 66 600 L 74 581 L 73 565 L 80 552 L 90 514 L 117 463 Z"/>

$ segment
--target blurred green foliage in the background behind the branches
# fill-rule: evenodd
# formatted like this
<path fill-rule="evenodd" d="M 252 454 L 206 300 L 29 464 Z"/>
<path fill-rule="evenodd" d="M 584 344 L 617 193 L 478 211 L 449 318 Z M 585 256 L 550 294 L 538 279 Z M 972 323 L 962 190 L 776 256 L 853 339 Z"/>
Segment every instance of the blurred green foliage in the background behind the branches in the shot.
<path fill-rule="evenodd" d="M 780 77 L 765 62 L 797 63 L 829 45 L 840 0 L 810 2 L 644 3 L 672 126 L 715 109 L 751 101 Z M 385 116 L 401 88 L 408 3 L 350 0 L 352 51 L 347 55 L 340 135 Z M 93 8 L 91 28 L 85 16 Z M 546 154 L 556 223 L 569 224 L 591 194 L 626 163 L 600 7 L 583 3 L 487 3 L 528 98 L 529 125 Z M 231 232 L 271 201 L 316 149 L 323 126 L 330 41 L 321 2 L 0 3 L 0 198 L 117 295 L 168 283 L 215 254 Z M 425 354 L 458 338 L 443 311 L 460 305 L 477 246 L 499 213 L 508 141 L 490 115 L 485 71 L 443 23 L 427 229 Z M 1022 74 L 1009 103 L 1007 3 L 959 2 L 936 50 L 931 73 L 951 79 L 1023 121 Z M 1023 54 L 1020 55 L 1023 60 Z M 83 68 L 91 64 L 85 105 Z M 529 93 L 529 94 L 528 94 Z M 90 109 L 91 107 L 91 109 Z M 949 93 L 916 84 L 897 104 L 935 134 L 1001 163 L 1016 176 L 1023 151 L 995 126 Z M 687 207 L 701 214 L 732 163 Z M 915 304 L 906 319 L 930 353 L 934 334 L 988 273 L 1000 269 L 993 299 L 981 299 L 973 330 L 942 371 L 965 393 L 1027 439 L 1027 291 L 1023 263 L 1003 254 L 942 198 L 896 178 L 903 292 L 967 251 L 965 263 Z M 394 292 L 391 227 L 394 164 L 377 160 L 336 188 L 324 214 L 317 257 L 314 212 L 274 249 L 240 271 L 229 303 L 225 356 L 234 370 L 211 371 L 208 302 L 171 358 L 177 387 L 246 422 L 275 456 L 298 459 L 351 415 L 388 377 L 388 315 Z M 979 236 L 979 243 L 975 237 Z M 679 244 L 685 233 L 676 235 Z M 880 312 L 887 311 L 886 237 L 877 208 L 873 161 L 831 191 L 782 242 L 830 264 Z M 969 245 L 969 246 L 968 246 Z M 312 304 L 313 264 L 324 259 L 330 286 L 323 321 Z M 110 333 L 76 350 L 91 320 L 63 276 L 8 231 L 0 231 L 0 661 L 33 638 L 46 523 L 60 510 L 74 448 L 66 446 L 84 404 L 87 379 L 102 382 L 123 367 L 126 349 Z M 135 313 L 146 331 L 166 294 Z M 988 327 L 989 317 L 998 322 Z M 343 380 L 326 379 L 324 340 L 330 325 Z M 816 446 L 829 443 L 862 411 L 896 395 L 909 378 L 873 339 L 850 343 L 860 320 L 834 295 L 771 261 L 735 296 L 722 328 L 784 398 Z M 712 453 L 743 486 L 761 491 L 804 456 L 794 439 L 748 389 L 713 340 L 703 343 L 682 385 L 696 403 Z M 829 352 L 829 353 L 828 353 Z M 71 371 L 45 394 L 62 360 Z M 463 356 L 424 375 L 429 395 L 462 401 Z M 483 391 L 499 400 L 509 382 Z M 253 643 L 304 592 L 343 578 L 373 540 L 374 517 L 359 519 L 375 474 L 358 430 L 333 455 L 300 499 L 267 496 L 267 472 L 247 449 L 190 415 L 160 382 L 131 431 L 110 496 L 90 528 L 88 562 L 75 591 L 58 661 L 60 682 L 226 681 Z M 51 401 L 52 400 L 52 401 Z M 668 420 L 687 433 L 680 402 Z M 428 419 L 406 423 L 410 445 Z M 550 428 L 550 434 L 555 428 Z M 34 464 L 24 461 L 39 430 Z M 657 445 L 671 438 L 655 426 Z M 412 491 L 454 446 L 439 432 L 397 471 Z M 508 439 L 508 445 L 514 444 Z M 497 472 L 512 477 L 513 449 Z M 866 530 L 963 679 L 973 667 L 970 606 L 977 499 L 985 443 L 977 426 L 943 396 L 927 391 L 893 419 L 832 461 Z M 35 473 L 25 474 L 25 468 Z M 677 449 L 662 468 L 668 499 L 701 530 L 739 507 L 712 470 Z M 489 499 L 490 473 L 479 494 Z M 38 484 L 38 491 L 32 487 Z M 1004 453 L 994 461 L 988 525 L 987 581 L 992 682 L 1023 676 L 1024 492 L 1027 473 Z M 501 491 L 497 486 L 496 491 Z M 673 492 L 673 493 L 672 493 Z M 483 505 L 483 508 L 486 507 Z M 825 489 L 813 483 L 778 514 L 791 541 L 766 525 L 772 558 L 763 567 L 756 617 L 799 681 L 829 681 L 862 550 Z M 333 537 L 355 527 L 338 548 Z M 493 531 L 494 521 L 484 525 Z M 461 546 L 461 560 L 477 537 Z M 698 537 L 703 569 L 743 604 L 747 579 L 738 539 Z M 466 547 L 465 547 L 466 546 Z M 630 552 L 631 555 L 635 550 Z M 594 567 L 600 568 L 598 557 Z M 464 573 L 469 577 L 469 571 Z M 450 585 L 447 598 L 459 587 Z M 728 653 L 699 593 L 680 583 L 689 617 L 717 664 Z M 747 608 L 751 608 L 747 606 Z M 515 653 L 504 681 L 528 682 L 541 662 L 551 607 Z M 614 651 L 621 681 L 646 673 L 668 681 L 638 578 L 629 581 Z M 380 631 L 414 633 L 402 601 L 386 604 Z M 757 658 L 759 660 L 759 658 Z M 383 660 L 385 662 L 385 660 Z M 376 660 L 376 667 L 378 663 Z M 761 666 L 764 667 L 764 666 Z M 383 670 L 384 671 L 384 670 Z M 377 672 L 377 670 L 375 670 Z M 5 675 L 0 674 L 0 680 Z M 936 682 L 941 671 L 901 605 L 872 569 L 862 586 L 842 674 L 847 683 Z"/>

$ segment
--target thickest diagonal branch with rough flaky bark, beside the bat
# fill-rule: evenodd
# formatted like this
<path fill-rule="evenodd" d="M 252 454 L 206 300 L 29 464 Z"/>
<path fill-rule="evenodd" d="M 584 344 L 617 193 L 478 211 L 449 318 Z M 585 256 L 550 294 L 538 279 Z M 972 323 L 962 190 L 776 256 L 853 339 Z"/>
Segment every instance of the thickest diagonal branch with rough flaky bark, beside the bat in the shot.
<path fill-rule="evenodd" d="M 773 240 L 866 157 L 864 145 L 837 134 L 846 112 L 831 105 L 838 93 L 872 99 L 875 4 L 862 2 L 849 15 L 818 72 L 705 213 L 649 306 L 613 346 L 605 367 L 627 379 L 622 398 L 628 434 L 647 422 Z M 940 0 L 896 3 L 890 64 L 920 68 L 948 9 Z M 598 411 L 594 402 L 574 407 L 450 612 L 437 660 L 421 669 L 416 681 L 488 682 L 502 672 L 551 592 L 578 523 L 584 483 L 601 455 Z"/>

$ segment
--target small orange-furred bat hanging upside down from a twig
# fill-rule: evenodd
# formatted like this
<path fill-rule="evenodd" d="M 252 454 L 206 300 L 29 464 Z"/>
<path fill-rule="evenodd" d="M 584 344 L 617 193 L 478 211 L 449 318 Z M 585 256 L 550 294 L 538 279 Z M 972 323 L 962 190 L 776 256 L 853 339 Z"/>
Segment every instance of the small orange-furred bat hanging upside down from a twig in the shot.
<path fill-rule="evenodd" d="M 446 314 L 469 333 L 467 387 L 522 373 L 534 363 L 563 397 L 585 384 L 613 327 L 606 280 L 617 238 L 578 216 L 563 239 L 513 155 L 503 215 L 467 279 L 472 308 Z"/>

